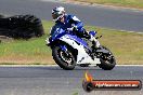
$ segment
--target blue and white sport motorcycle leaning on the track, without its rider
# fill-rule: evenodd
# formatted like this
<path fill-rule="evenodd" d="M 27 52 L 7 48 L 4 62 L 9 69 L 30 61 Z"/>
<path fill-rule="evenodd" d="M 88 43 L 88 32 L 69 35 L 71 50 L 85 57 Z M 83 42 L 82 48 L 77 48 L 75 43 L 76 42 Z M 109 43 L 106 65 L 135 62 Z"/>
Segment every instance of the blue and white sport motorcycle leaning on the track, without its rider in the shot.
<path fill-rule="evenodd" d="M 96 36 L 94 31 L 89 31 L 89 33 Z M 53 27 L 46 41 L 52 50 L 53 59 L 65 70 L 73 70 L 76 66 L 99 66 L 104 70 L 112 70 L 116 65 L 116 59 L 106 46 L 100 44 L 99 38 L 101 37 L 95 38 L 96 46 L 93 46 L 73 31 Z"/>

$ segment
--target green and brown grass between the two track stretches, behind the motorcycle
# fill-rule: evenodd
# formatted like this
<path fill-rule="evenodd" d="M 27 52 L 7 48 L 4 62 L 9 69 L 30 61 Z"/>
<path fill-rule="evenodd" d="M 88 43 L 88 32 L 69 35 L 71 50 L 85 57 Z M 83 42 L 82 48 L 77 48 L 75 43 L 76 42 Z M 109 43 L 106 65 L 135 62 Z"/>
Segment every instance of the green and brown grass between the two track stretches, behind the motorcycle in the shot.
<path fill-rule="evenodd" d="M 54 64 L 51 50 L 46 45 L 46 38 L 53 24 L 43 22 L 46 35 L 29 40 L 14 40 L 0 43 L 0 63 L 12 64 Z M 98 30 L 103 38 L 100 42 L 112 50 L 117 64 L 143 64 L 143 35 L 122 32 L 94 26 L 86 26 L 87 30 Z"/>

